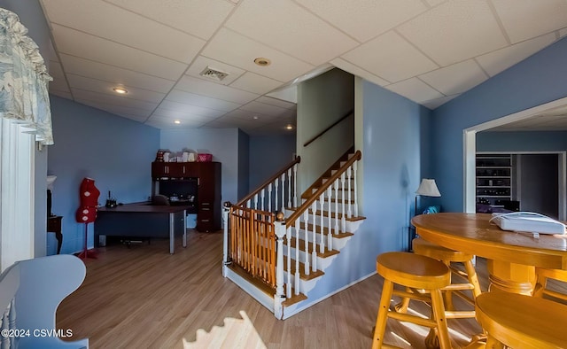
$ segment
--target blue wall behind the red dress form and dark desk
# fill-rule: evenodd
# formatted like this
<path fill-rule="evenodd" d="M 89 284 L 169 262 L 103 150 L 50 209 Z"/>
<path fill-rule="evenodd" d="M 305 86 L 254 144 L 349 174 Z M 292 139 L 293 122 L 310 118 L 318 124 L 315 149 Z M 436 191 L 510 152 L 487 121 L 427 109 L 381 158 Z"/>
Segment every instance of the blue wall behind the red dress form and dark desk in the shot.
<path fill-rule="evenodd" d="M 121 203 L 147 200 L 159 130 L 64 98 L 50 100 L 55 144 L 48 147 L 48 174 L 57 175 L 51 211 L 63 216 L 61 252 L 72 253 L 84 245 L 84 225 L 74 218 L 82 179 L 95 180 L 101 205 L 108 190 Z M 89 247 L 92 230 L 89 224 Z"/>

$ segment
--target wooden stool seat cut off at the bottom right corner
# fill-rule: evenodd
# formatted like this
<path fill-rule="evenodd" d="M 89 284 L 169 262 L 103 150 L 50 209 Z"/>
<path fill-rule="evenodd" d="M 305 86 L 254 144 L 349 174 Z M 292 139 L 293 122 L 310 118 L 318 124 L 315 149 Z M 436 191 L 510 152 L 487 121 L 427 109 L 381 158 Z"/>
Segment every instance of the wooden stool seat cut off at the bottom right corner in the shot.
<path fill-rule="evenodd" d="M 486 348 L 564 348 L 567 306 L 508 292 L 477 297 L 477 321 L 486 331 Z"/>

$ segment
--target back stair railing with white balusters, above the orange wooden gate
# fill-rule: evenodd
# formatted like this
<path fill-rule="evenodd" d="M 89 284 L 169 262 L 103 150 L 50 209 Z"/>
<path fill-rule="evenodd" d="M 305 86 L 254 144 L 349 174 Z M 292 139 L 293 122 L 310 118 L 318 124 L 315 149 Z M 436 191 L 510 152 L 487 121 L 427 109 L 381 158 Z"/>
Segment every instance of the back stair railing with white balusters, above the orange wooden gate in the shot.
<path fill-rule="evenodd" d="M 267 212 L 283 211 L 284 207 L 297 207 L 297 172 L 301 157 L 296 157 L 263 182 L 258 189 L 237 202 L 236 206 L 245 206 Z M 272 199 L 273 198 L 273 199 Z M 278 201 L 279 199 L 279 201 Z M 287 202 L 286 202 L 287 199 Z"/>

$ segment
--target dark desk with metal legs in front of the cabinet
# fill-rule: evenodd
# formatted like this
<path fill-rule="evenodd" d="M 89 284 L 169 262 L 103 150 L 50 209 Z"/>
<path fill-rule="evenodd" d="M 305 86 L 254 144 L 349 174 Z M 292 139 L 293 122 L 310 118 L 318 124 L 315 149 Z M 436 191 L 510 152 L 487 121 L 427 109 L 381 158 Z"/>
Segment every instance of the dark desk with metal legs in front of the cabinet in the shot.
<path fill-rule="evenodd" d="M 175 235 L 183 235 L 187 247 L 185 217 L 187 206 L 155 206 L 135 203 L 113 208 L 99 207 L 95 221 L 95 244 L 98 236 L 169 237 L 169 253 L 175 252 Z"/>

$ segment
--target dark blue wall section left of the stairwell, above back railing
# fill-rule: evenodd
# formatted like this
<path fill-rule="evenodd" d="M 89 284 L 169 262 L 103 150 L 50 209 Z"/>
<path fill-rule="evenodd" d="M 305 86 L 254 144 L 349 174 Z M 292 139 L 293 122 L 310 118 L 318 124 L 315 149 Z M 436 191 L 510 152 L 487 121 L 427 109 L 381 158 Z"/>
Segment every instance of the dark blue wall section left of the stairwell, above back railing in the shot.
<path fill-rule="evenodd" d="M 293 136 L 252 136 L 250 137 L 250 190 L 288 165 L 295 153 Z M 247 193 L 246 193 L 247 194 Z"/>

